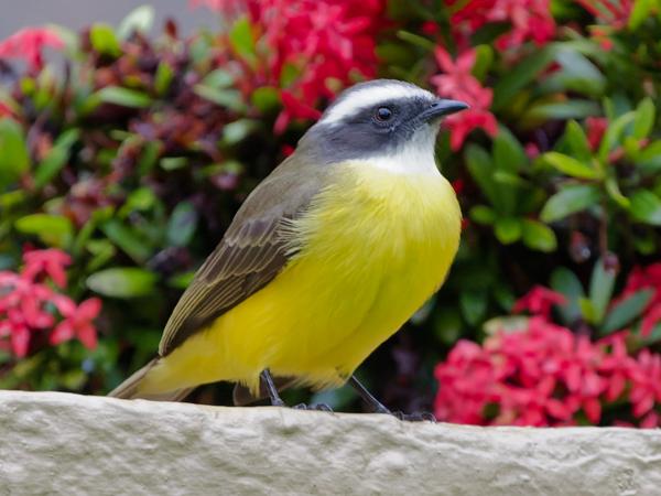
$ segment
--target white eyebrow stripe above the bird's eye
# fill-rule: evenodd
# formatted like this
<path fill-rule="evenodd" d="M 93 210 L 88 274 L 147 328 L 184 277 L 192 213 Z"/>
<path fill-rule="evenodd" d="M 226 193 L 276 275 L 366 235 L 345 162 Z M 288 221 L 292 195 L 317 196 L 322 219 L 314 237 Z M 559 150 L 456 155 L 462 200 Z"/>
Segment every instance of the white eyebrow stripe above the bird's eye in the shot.
<path fill-rule="evenodd" d="M 380 101 L 411 97 L 434 98 L 434 95 L 425 89 L 401 84 L 376 87 L 366 86 L 365 88 L 355 89 L 343 100 L 328 108 L 326 114 L 322 117 L 321 122 L 337 122 L 347 116 L 356 114 L 361 108 L 371 107 Z"/>

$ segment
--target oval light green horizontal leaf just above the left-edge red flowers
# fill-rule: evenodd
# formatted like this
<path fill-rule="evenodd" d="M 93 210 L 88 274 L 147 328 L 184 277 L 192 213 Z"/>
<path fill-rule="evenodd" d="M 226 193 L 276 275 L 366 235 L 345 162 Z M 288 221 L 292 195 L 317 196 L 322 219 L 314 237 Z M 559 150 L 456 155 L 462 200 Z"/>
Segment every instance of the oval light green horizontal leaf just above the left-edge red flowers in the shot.
<path fill-rule="evenodd" d="M 137 298 L 153 292 L 156 276 L 137 267 L 116 267 L 93 273 L 87 287 L 104 296 Z"/>

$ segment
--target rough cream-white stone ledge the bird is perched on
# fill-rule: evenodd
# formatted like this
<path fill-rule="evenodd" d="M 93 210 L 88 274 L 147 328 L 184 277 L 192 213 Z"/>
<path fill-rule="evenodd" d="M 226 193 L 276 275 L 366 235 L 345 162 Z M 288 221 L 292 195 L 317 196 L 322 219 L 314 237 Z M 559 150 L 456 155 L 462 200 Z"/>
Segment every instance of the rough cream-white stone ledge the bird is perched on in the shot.
<path fill-rule="evenodd" d="M 659 495 L 661 431 L 0 391 L 0 495 Z"/>

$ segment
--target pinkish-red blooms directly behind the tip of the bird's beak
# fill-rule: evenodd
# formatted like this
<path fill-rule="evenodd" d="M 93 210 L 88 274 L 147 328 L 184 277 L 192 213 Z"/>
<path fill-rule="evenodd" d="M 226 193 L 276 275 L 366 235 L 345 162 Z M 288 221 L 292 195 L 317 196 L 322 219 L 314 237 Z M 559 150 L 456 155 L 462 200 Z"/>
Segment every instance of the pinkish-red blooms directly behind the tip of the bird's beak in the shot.
<path fill-rule="evenodd" d="M 475 50 L 467 50 L 453 61 L 445 48 L 436 47 L 436 62 L 443 71 L 432 77 L 436 93 L 443 97 L 465 101 L 469 109 L 449 116 L 445 126 L 451 130 L 451 148 L 458 150 L 470 131 L 476 128 L 484 129 L 494 137 L 498 132 L 498 122 L 489 107 L 491 106 L 492 90 L 485 88 L 473 76 L 475 65 Z"/>

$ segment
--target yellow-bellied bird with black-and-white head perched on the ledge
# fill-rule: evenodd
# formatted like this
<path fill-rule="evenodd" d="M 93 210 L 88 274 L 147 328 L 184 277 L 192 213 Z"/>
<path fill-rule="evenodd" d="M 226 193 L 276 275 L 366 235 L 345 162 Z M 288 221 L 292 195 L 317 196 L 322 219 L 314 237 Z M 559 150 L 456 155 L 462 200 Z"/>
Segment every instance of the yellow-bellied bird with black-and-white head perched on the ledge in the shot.
<path fill-rule="evenodd" d="M 444 282 L 462 212 L 435 161 L 466 109 L 411 83 L 345 89 L 247 197 L 171 314 L 158 356 L 110 396 L 181 400 L 236 382 L 235 403 L 349 382 Z"/>

